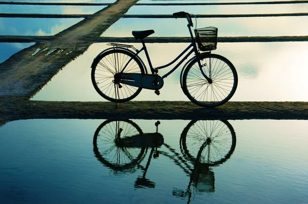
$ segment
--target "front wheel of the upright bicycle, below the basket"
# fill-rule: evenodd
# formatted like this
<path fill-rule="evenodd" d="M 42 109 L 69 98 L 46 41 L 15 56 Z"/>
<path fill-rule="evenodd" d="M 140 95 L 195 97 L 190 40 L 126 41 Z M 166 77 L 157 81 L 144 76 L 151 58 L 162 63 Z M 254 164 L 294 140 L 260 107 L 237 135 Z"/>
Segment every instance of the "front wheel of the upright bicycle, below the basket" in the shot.
<path fill-rule="evenodd" d="M 198 60 L 194 59 L 184 71 L 184 93 L 199 106 L 221 106 L 236 91 L 238 85 L 236 69 L 227 58 L 217 54 L 201 55 L 200 58 L 201 69 Z"/>

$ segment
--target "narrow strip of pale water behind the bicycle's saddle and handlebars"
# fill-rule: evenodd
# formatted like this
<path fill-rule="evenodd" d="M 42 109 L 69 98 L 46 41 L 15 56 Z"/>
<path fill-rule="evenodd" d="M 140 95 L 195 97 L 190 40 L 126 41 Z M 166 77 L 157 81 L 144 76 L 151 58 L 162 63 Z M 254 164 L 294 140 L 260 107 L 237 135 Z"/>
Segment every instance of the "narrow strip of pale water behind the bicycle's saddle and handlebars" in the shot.
<path fill-rule="evenodd" d="M 308 16 L 197 18 L 197 28 L 217 27 L 219 37 L 305 36 L 308 33 L 304 26 L 306 21 Z M 132 30 L 152 29 L 155 30 L 153 37 L 186 37 L 189 36 L 186 25 L 187 21 L 183 18 L 122 18 L 102 36 L 131 37 Z"/>

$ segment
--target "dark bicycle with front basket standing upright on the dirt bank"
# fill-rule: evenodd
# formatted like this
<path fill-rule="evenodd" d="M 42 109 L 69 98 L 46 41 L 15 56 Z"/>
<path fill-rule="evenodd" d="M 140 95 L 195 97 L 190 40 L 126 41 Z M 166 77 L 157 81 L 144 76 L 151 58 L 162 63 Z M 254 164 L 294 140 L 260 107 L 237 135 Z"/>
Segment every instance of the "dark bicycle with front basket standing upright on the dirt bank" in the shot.
<path fill-rule="evenodd" d="M 124 103 L 136 97 L 142 89 L 155 90 L 157 95 L 164 85 L 164 78 L 174 72 L 192 53 L 185 63 L 180 85 L 184 94 L 196 105 L 201 107 L 217 107 L 225 104 L 235 93 L 238 75 L 234 65 L 225 57 L 211 53 L 217 48 L 217 32 L 215 27 L 194 29 L 191 15 L 184 11 L 173 14 L 176 18 L 186 18 L 191 37 L 190 45 L 170 63 L 153 68 L 144 38 L 153 34 L 154 30 L 132 31 L 136 39 L 140 39 L 140 50 L 132 45 L 108 43 L 111 48 L 99 53 L 91 65 L 91 81 L 95 90 L 105 99 Z M 196 19 L 197 24 L 197 19 Z M 145 52 L 147 67 L 139 53 Z M 182 57 L 182 58 L 181 58 Z M 180 60 L 169 72 L 158 75 L 160 69 L 169 67 Z"/>

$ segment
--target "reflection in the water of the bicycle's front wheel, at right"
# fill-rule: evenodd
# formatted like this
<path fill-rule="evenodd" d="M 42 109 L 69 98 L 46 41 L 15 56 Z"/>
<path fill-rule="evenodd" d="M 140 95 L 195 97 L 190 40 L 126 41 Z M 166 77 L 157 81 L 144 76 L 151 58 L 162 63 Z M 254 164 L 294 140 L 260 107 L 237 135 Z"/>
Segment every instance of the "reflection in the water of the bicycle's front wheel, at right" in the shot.
<path fill-rule="evenodd" d="M 189 160 L 216 166 L 233 154 L 236 135 L 226 120 L 192 120 L 181 134 L 180 145 Z"/>

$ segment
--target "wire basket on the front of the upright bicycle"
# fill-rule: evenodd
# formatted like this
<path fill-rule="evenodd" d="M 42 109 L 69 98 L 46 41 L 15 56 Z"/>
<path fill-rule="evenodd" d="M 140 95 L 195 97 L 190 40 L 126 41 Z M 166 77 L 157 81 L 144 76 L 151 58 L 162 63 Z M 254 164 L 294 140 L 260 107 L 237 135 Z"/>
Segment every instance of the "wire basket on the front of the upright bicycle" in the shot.
<path fill-rule="evenodd" d="M 206 27 L 195 29 L 196 42 L 201 51 L 216 50 L 217 32 L 215 27 Z"/>

